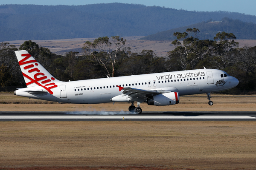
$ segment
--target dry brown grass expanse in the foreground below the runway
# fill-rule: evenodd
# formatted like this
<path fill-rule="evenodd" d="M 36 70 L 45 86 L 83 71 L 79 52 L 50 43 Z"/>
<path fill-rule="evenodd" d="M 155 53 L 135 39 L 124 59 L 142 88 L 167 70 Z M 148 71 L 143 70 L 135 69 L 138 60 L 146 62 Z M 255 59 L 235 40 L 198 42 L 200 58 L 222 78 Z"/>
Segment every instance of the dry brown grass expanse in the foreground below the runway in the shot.
<path fill-rule="evenodd" d="M 6 169 L 142 165 L 256 169 L 256 122 L 0 122 L 0 167 Z"/>

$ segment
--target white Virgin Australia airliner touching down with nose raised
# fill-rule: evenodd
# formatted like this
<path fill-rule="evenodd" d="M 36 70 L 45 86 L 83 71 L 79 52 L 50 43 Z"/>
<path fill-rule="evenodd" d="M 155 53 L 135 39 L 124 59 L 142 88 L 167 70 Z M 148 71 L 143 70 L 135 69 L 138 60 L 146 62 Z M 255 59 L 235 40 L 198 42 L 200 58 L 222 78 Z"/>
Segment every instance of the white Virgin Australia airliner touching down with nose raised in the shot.
<path fill-rule="evenodd" d="M 62 82 L 55 79 L 27 51 L 15 51 L 27 88 L 14 93 L 33 99 L 77 104 L 131 102 L 129 111 L 141 113 L 140 103 L 165 106 L 179 103 L 180 96 L 207 94 L 236 87 L 239 81 L 226 72 L 198 69 Z M 137 101 L 137 107 L 134 102 Z"/>

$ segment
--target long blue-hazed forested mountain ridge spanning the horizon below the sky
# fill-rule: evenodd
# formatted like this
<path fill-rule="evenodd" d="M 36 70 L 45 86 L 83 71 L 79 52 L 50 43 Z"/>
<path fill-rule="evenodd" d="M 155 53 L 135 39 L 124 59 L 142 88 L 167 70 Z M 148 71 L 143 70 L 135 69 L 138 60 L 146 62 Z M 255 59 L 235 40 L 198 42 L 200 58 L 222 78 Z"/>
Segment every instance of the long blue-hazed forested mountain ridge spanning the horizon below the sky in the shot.
<path fill-rule="evenodd" d="M 236 12 L 198 12 L 107 3 L 83 6 L 0 6 L 0 42 L 104 36 L 143 36 L 224 17 L 256 23 Z"/>

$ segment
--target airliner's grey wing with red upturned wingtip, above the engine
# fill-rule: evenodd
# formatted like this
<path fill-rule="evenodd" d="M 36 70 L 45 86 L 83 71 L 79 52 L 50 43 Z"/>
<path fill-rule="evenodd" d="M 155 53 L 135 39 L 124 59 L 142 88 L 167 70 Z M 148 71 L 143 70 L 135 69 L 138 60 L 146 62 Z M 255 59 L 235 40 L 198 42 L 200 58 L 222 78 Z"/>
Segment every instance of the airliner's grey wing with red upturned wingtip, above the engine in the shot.
<path fill-rule="evenodd" d="M 117 85 L 117 87 L 119 87 L 119 91 L 123 90 L 122 96 L 127 96 L 126 99 L 128 99 L 128 101 L 137 97 L 144 98 L 144 97 L 155 96 L 157 94 L 171 92 L 171 91 L 164 91 L 164 90 L 143 90 L 138 88 L 123 88 L 119 85 Z"/>

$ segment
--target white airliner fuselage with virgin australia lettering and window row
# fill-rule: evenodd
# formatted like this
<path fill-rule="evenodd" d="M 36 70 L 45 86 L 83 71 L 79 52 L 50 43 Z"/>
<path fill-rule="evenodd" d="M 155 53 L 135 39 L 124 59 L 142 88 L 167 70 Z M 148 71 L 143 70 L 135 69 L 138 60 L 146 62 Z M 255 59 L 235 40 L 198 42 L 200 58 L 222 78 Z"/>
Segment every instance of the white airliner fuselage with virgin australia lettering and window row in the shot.
<path fill-rule="evenodd" d="M 221 76 L 222 74 L 222 76 Z M 56 83 L 53 94 L 30 93 L 29 91 L 43 89 L 40 86 L 23 88 L 15 91 L 16 95 L 34 99 L 78 104 L 96 104 L 111 102 L 111 98 L 121 95 L 121 87 L 144 90 L 176 91 L 180 96 L 224 91 L 238 85 L 235 77 L 226 76 L 224 71 L 215 69 L 198 69 L 166 73 L 143 74 L 124 77 L 79 80 Z"/>

